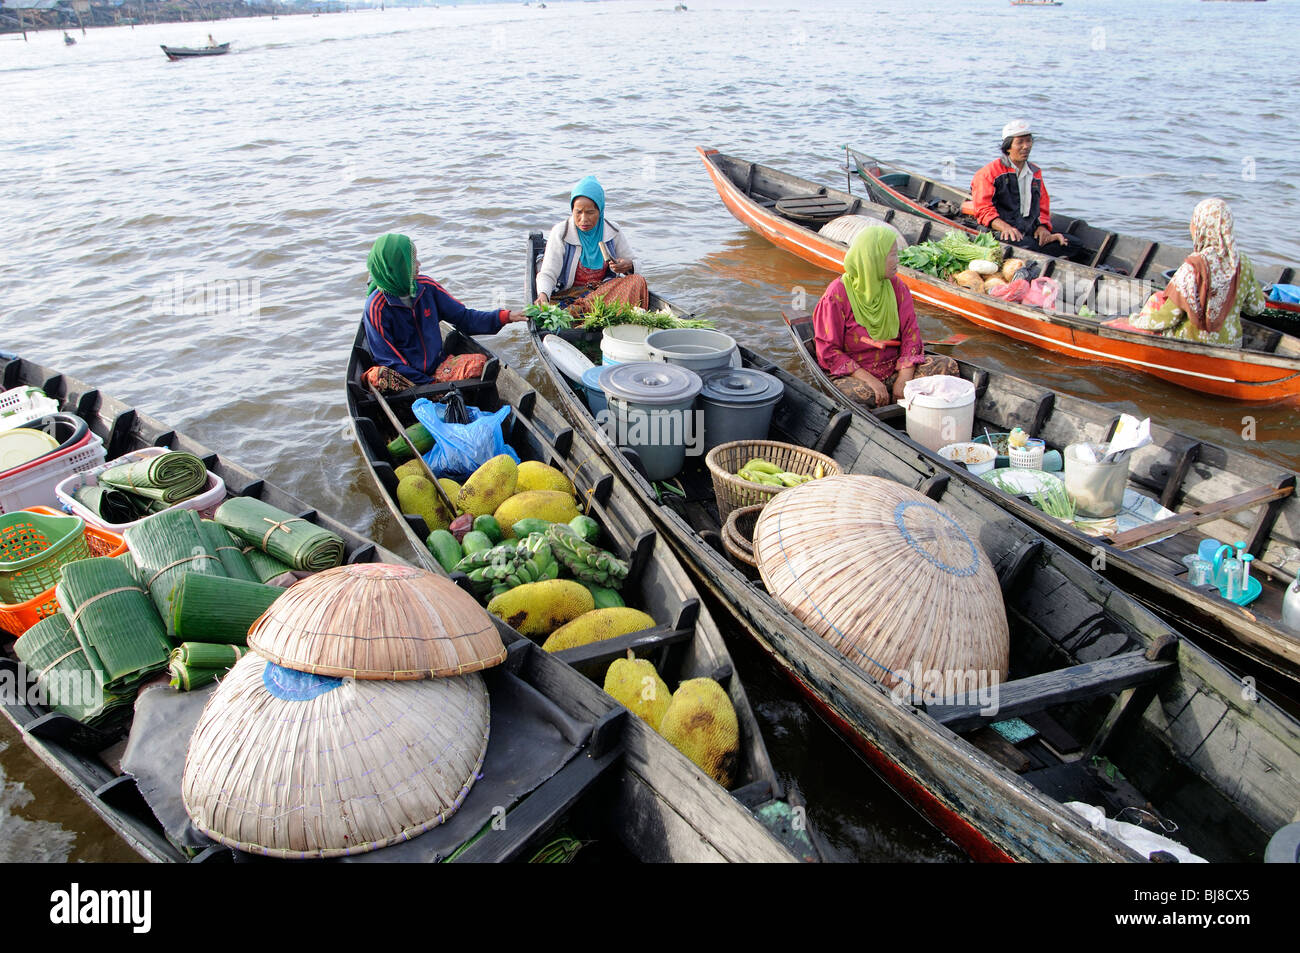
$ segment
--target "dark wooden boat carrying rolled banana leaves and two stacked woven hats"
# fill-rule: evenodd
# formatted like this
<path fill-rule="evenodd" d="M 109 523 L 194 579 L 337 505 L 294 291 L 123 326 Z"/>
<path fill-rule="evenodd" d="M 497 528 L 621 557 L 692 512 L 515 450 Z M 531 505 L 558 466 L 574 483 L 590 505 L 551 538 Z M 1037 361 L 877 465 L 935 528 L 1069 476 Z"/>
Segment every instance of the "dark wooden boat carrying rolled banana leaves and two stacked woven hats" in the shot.
<path fill-rule="evenodd" d="M 81 416 L 104 439 L 109 459 L 150 446 L 190 451 L 225 481 L 231 495 L 257 497 L 341 536 L 348 563 L 404 563 L 396 554 L 243 467 L 81 381 L 12 355 L 0 355 L 0 377 L 6 389 L 36 386 L 58 399 L 64 410 Z M 572 829 L 578 831 L 590 826 L 590 837 L 608 845 L 602 855 L 614 861 L 794 859 L 750 811 L 716 784 L 706 783 L 690 762 L 641 719 L 630 716 L 590 680 L 538 650 L 510 627 L 498 624 L 498 631 L 508 658 L 485 673 L 494 707 L 497 693 L 502 690 L 519 690 L 536 698 L 538 706 L 551 712 L 547 715 L 551 727 L 545 729 L 571 738 L 575 753 L 568 761 L 552 764 L 554 774 L 523 793 L 512 806 L 503 805 L 510 807 L 506 815 L 510 823 L 504 829 L 488 832 L 459 854 L 459 859 L 526 859 L 551 839 L 562 822 L 577 826 Z M 17 670 L 8 636 L 0 651 L 0 670 L 9 677 Z M 87 738 L 87 732 L 79 731 L 81 725 L 66 716 L 22 703 L 12 693 L 0 707 L 32 751 L 146 859 L 234 859 L 235 852 L 222 846 L 191 857 L 166 837 L 136 781 L 118 767 L 118 738 Z M 512 744 L 503 732 L 504 727 L 494 722 L 493 740 L 499 737 L 502 744 Z M 514 744 L 536 744 L 537 736 L 529 737 L 532 742 L 520 738 Z M 491 758 L 489 748 L 485 766 Z M 363 858 L 416 859 L 419 853 L 410 850 L 419 852 L 420 841 L 417 837 Z"/>

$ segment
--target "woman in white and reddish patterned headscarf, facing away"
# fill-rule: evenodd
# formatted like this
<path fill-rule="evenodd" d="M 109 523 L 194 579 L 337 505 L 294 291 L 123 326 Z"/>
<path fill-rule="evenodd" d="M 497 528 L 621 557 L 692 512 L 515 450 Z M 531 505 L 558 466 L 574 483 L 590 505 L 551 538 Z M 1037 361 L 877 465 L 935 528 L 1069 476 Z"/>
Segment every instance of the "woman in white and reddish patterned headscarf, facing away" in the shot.
<path fill-rule="evenodd" d="M 1240 347 L 1242 313 L 1261 315 L 1265 307 L 1254 268 L 1236 250 L 1231 209 L 1222 199 L 1205 199 L 1192 211 L 1192 254 L 1127 324 L 1165 337 Z"/>

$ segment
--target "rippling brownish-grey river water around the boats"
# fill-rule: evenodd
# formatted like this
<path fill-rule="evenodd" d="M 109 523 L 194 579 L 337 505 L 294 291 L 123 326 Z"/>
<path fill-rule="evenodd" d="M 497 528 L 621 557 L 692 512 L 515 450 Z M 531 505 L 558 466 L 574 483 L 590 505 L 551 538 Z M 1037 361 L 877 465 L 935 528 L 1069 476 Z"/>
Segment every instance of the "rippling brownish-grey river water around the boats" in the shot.
<path fill-rule="evenodd" d="M 471 307 L 520 307 L 524 239 L 604 185 L 651 286 L 798 372 L 780 309 L 832 277 L 750 234 L 696 146 L 842 183 L 844 144 L 968 182 L 1023 116 L 1053 207 L 1186 243 L 1227 199 L 1295 261 L 1300 4 L 551 3 L 0 36 L 0 348 L 136 403 L 400 549 L 346 425 L 365 254 L 411 234 Z M 159 44 L 229 56 L 168 62 Z M 1035 352 L 937 312 L 958 356 L 1300 467 L 1294 407 L 1243 407 Z M 520 328 L 507 359 L 534 380 Z M 1244 436 L 1243 436 L 1244 434 Z M 738 641 L 738 640 L 736 640 Z M 959 854 L 755 653 L 783 774 L 840 859 Z M 129 852 L 0 732 L 0 859 Z"/>

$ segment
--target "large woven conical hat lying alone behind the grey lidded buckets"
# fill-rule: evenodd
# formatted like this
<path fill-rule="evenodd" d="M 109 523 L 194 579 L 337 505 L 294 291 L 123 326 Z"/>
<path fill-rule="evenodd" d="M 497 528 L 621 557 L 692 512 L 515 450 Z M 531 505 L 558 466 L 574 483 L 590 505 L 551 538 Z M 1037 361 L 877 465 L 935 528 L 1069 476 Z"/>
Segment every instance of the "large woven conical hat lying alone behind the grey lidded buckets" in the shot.
<path fill-rule="evenodd" d="M 997 573 L 957 519 L 915 490 L 835 476 L 779 493 L 758 517 L 754 555 L 776 599 L 888 688 L 919 693 L 918 672 L 1006 679 Z"/>

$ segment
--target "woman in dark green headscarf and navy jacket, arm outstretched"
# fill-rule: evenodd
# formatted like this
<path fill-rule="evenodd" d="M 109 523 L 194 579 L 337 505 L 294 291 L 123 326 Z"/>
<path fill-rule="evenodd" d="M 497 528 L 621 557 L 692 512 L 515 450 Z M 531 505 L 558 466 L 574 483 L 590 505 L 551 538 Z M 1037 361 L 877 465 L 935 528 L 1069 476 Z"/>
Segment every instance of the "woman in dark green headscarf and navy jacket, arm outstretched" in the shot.
<path fill-rule="evenodd" d="M 467 308 L 442 285 L 420 274 L 415 243 L 406 235 L 381 235 L 365 268 L 370 274 L 361 312 L 365 343 L 376 367 L 387 368 L 373 374 L 376 386 L 400 390 L 434 380 L 442 363 L 439 321 L 465 334 L 495 334 L 511 321 L 525 320 L 523 311 Z"/>

